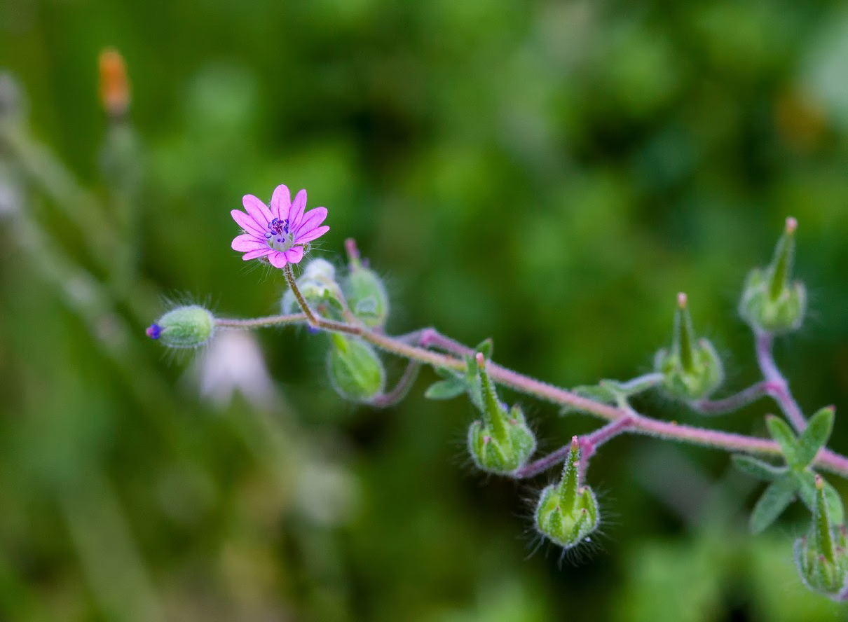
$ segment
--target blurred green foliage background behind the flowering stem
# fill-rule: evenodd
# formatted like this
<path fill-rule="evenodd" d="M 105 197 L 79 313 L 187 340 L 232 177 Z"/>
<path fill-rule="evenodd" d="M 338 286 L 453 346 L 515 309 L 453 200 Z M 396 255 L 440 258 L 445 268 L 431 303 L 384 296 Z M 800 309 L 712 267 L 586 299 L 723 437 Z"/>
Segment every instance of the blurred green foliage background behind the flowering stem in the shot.
<path fill-rule="evenodd" d="M 757 379 L 742 280 L 791 214 L 811 308 L 778 361 L 848 451 L 841 3 L 0 0 L 0 68 L 0 619 L 844 618 L 792 565 L 806 510 L 749 536 L 760 485 L 725 454 L 610 442 L 575 564 L 529 530 L 546 476 L 475 473 L 471 406 L 421 397 L 429 370 L 376 410 L 334 395 L 304 330 L 144 337 L 168 301 L 276 312 L 229 210 L 286 183 L 330 210 L 315 255 L 341 266 L 354 236 L 385 275 L 393 332 L 623 380 L 683 290 L 729 392 Z M 597 425 L 509 399 L 548 449 Z M 773 408 L 705 423 L 762 434 Z"/>

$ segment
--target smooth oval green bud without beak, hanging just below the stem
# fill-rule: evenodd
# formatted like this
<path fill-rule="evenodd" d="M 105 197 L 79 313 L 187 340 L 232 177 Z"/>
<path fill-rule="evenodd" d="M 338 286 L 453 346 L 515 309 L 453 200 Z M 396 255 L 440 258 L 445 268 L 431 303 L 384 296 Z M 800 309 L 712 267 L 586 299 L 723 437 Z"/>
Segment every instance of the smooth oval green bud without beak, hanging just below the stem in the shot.
<path fill-rule="evenodd" d="M 354 402 L 368 402 L 382 393 L 386 370 L 371 344 L 359 337 L 330 335 L 326 370 L 336 392 Z"/>

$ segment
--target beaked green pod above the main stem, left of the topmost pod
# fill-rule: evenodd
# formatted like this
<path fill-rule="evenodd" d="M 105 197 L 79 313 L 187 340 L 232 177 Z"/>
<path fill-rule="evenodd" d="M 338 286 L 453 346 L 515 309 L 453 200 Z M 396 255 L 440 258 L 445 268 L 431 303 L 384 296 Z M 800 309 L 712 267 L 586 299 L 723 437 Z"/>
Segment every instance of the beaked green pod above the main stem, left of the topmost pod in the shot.
<path fill-rule="evenodd" d="M 655 366 L 665 391 L 684 402 L 708 397 L 724 380 L 716 348 L 706 339 L 695 339 L 686 294 L 678 294 L 672 347 L 656 353 Z"/>

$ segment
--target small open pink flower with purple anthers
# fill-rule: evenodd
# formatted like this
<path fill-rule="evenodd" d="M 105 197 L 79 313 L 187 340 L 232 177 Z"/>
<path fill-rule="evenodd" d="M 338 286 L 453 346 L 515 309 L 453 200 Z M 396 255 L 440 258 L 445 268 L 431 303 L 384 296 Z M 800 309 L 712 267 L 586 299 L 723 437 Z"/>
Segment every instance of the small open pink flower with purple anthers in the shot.
<path fill-rule="evenodd" d="M 232 247 L 244 253 L 245 261 L 267 256 L 275 268 L 298 264 L 304 258 L 304 244 L 330 230 L 319 226 L 326 219 L 326 208 L 310 209 L 304 214 L 305 190 L 298 192 L 292 201 L 286 186 L 276 186 L 271 209 L 252 194 L 244 195 L 242 203 L 247 214 L 237 209 L 230 214 L 244 230 L 232 241 Z"/>

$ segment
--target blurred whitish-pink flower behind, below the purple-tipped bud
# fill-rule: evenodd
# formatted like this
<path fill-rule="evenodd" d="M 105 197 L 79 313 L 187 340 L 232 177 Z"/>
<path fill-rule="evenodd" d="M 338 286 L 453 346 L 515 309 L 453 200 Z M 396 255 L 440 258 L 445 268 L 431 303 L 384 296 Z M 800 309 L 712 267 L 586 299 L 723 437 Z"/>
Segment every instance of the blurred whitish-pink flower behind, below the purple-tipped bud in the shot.
<path fill-rule="evenodd" d="M 259 344 L 246 330 L 219 330 L 198 358 L 195 375 L 200 395 L 218 408 L 226 408 L 234 392 L 249 403 L 270 409 L 277 392 Z"/>

